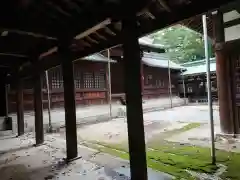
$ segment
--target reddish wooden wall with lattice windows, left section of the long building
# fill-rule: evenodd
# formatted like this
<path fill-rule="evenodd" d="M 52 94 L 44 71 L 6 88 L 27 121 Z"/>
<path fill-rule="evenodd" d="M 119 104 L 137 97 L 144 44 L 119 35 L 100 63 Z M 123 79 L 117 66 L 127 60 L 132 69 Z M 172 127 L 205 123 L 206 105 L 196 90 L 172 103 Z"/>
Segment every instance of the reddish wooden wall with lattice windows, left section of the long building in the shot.
<path fill-rule="evenodd" d="M 75 93 L 76 105 L 104 104 L 106 103 L 106 63 L 77 61 L 74 63 L 75 70 Z M 85 73 L 89 73 L 92 79 L 84 79 Z M 64 89 L 61 68 L 56 67 L 48 71 L 50 84 L 51 107 L 64 106 Z M 86 76 L 85 76 L 86 77 Z M 43 108 L 47 108 L 47 91 L 45 76 L 43 76 Z M 84 83 L 88 81 L 88 83 Z M 93 82 L 94 81 L 94 87 Z M 101 81 L 101 83 L 100 83 Z M 98 83 L 98 84 L 97 84 Z M 8 93 L 9 112 L 16 112 L 16 94 L 14 87 Z M 33 90 L 32 81 L 24 82 L 24 110 L 33 110 Z"/>

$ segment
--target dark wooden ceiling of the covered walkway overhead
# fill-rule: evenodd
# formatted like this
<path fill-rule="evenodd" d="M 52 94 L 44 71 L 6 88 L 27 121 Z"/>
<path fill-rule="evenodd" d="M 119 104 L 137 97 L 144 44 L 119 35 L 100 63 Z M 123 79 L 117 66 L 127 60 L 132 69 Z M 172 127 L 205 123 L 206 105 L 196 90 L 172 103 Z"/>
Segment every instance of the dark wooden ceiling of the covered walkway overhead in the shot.
<path fill-rule="evenodd" d="M 137 15 L 139 36 L 222 7 L 230 0 L 2 0 L 0 72 L 34 73 L 31 57 L 41 55 L 43 71 L 61 63 L 57 45 L 71 39 L 73 61 L 122 43 L 121 19 Z"/>

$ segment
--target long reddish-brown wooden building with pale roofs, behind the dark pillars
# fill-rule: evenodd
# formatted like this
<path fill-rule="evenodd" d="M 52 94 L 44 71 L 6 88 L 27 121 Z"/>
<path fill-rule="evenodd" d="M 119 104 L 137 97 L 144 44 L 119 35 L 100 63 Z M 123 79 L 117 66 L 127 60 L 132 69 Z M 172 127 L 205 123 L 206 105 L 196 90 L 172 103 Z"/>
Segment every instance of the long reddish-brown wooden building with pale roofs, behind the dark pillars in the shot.
<path fill-rule="evenodd" d="M 149 43 L 149 42 L 148 42 Z M 142 92 L 143 98 L 156 98 L 169 96 L 168 61 L 171 72 L 172 94 L 178 95 L 178 77 L 182 67 L 172 62 L 165 50 L 159 46 L 140 43 L 142 49 Z M 111 89 L 112 100 L 119 100 L 125 96 L 124 90 L 124 64 L 121 47 L 110 50 L 111 59 Z M 108 103 L 109 77 L 107 53 L 93 54 L 74 62 L 74 81 L 76 105 L 91 105 Z M 64 89 L 61 66 L 48 70 L 51 107 L 64 105 Z M 46 79 L 43 81 L 43 108 L 47 108 Z M 24 80 L 23 101 L 24 109 L 33 109 L 33 82 Z M 10 87 L 8 93 L 9 111 L 16 111 L 15 88 Z"/>

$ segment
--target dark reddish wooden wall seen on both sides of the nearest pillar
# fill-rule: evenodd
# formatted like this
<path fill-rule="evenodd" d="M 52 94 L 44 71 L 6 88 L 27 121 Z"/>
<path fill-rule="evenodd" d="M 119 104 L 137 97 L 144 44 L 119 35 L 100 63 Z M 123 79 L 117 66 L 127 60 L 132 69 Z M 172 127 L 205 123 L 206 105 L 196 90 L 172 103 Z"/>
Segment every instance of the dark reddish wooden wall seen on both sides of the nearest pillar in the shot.
<path fill-rule="evenodd" d="M 112 94 L 113 99 L 117 99 L 124 96 L 124 77 L 123 64 L 121 62 L 112 64 Z M 169 96 L 169 80 L 168 80 L 168 69 L 156 68 L 150 66 L 143 66 L 144 72 L 144 92 L 143 97 L 156 98 L 156 97 L 167 97 Z M 178 76 L 179 72 L 172 71 L 172 93 L 173 95 L 178 94 Z"/>

